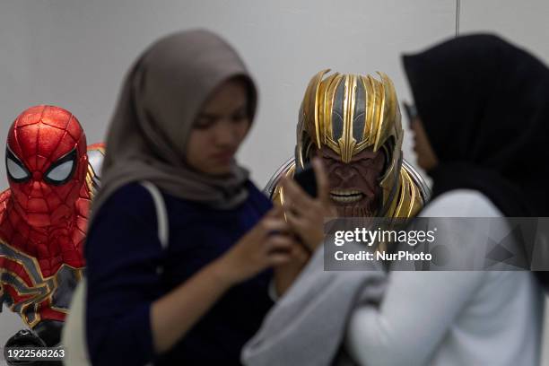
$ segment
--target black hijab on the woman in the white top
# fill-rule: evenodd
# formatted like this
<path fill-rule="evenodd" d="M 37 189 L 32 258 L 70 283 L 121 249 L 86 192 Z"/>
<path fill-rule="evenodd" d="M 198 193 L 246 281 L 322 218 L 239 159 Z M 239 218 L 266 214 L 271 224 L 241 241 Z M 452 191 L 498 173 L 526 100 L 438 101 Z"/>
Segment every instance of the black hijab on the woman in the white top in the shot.
<path fill-rule="evenodd" d="M 439 159 L 432 197 L 470 188 L 505 216 L 549 216 L 549 69 L 492 35 L 403 58 Z"/>

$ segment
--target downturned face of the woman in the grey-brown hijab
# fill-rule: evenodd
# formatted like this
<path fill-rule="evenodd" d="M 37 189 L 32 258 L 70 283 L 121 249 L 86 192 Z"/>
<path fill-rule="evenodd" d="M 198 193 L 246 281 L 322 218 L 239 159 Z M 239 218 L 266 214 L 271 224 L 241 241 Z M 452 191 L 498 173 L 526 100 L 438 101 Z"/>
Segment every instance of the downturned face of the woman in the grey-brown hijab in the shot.
<path fill-rule="evenodd" d="M 238 79 L 222 83 L 198 113 L 187 144 L 187 163 L 209 175 L 231 171 L 248 133 L 248 90 Z"/>

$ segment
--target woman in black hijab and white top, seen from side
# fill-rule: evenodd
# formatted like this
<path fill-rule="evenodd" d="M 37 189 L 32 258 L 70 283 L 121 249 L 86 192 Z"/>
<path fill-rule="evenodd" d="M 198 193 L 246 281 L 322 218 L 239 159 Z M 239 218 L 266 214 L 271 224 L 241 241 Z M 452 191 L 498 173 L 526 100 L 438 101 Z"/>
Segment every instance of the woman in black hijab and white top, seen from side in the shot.
<path fill-rule="evenodd" d="M 547 216 L 549 70 L 491 35 L 404 57 L 418 164 L 433 180 L 425 217 Z M 438 222 L 440 233 L 453 223 Z M 447 242 L 476 247 L 474 231 Z M 471 244 L 471 246 L 467 246 Z M 378 308 L 355 309 L 359 364 L 539 364 L 543 294 L 527 271 L 388 274 Z"/>

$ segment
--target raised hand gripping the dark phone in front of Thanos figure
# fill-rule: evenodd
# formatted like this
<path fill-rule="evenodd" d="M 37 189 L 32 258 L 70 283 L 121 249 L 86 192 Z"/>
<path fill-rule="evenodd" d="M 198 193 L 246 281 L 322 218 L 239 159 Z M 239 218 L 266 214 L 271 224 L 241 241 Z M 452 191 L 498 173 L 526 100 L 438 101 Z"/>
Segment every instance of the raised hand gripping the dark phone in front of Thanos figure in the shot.
<path fill-rule="evenodd" d="M 329 197 L 327 174 L 322 161 L 312 161 L 317 179 L 317 198 L 309 196 L 293 179 L 283 179 L 284 214 L 292 230 L 311 252 L 324 239 L 324 221 L 335 217 L 335 207 Z"/>

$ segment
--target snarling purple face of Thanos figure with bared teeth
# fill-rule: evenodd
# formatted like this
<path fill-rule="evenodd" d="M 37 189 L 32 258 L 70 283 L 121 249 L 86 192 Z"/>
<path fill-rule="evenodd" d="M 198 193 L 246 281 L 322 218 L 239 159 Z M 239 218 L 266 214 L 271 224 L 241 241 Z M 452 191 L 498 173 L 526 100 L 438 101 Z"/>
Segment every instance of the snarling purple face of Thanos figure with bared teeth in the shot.
<path fill-rule="evenodd" d="M 381 187 L 379 179 L 384 171 L 385 156 L 366 148 L 353 155 L 349 162 L 327 146 L 314 149 L 324 161 L 330 185 L 330 197 L 339 217 L 372 216 L 379 210 Z"/>

